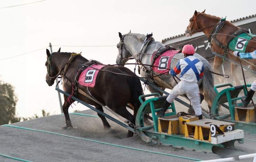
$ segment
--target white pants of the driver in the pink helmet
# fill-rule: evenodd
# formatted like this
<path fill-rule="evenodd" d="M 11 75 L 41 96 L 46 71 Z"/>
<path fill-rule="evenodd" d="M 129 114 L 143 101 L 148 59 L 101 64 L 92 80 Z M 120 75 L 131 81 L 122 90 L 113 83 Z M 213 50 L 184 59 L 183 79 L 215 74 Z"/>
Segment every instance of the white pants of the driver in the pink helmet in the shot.
<path fill-rule="evenodd" d="M 256 83 L 255 83 L 256 84 Z M 184 80 L 181 80 L 171 91 L 169 96 L 167 97 L 167 101 L 169 103 L 172 103 L 173 100 L 180 96 L 186 94 L 189 98 L 194 110 L 195 115 L 199 116 L 202 114 L 201 112 L 201 106 L 200 106 L 200 93 L 199 93 L 199 87 L 196 82 L 187 82 Z"/>

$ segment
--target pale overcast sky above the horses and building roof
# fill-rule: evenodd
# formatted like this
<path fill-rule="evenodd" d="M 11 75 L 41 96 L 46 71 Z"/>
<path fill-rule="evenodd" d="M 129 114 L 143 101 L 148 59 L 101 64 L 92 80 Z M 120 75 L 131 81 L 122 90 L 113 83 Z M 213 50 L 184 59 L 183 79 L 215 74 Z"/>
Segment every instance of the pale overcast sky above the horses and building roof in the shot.
<path fill-rule="evenodd" d="M 115 64 L 118 32 L 153 33 L 155 41 L 185 33 L 195 10 L 231 21 L 256 14 L 240 0 L 0 0 L 0 80 L 15 87 L 16 115 L 60 114 L 55 85 L 45 82 L 46 49 L 82 52 Z M 134 62 L 130 62 L 134 63 Z M 133 71 L 134 66 L 127 66 Z M 61 94 L 62 103 L 63 95 Z M 83 111 L 82 104 L 69 112 Z"/>

